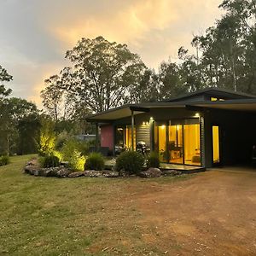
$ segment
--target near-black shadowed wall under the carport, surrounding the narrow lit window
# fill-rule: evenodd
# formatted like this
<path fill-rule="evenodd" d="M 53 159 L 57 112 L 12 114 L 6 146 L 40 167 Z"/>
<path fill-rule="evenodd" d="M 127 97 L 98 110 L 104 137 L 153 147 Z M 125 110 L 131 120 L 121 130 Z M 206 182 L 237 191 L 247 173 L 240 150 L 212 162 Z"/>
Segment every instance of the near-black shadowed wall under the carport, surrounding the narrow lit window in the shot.
<path fill-rule="evenodd" d="M 220 160 L 223 166 L 250 163 L 256 143 L 256 114 L 224 110 L 205 111 L 206 167 L 212 166 L 212 125 L 220 129 Z"/>

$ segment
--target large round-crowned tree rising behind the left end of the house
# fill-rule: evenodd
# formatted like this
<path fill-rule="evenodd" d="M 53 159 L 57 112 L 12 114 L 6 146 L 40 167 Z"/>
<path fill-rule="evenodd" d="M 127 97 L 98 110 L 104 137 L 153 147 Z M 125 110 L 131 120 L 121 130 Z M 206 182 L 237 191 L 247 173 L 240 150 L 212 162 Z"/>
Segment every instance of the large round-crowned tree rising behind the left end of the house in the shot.
<path fill-rule="evenodd" d="M 66 57 L 73 63 L 76 81 L 70 89 L 92 112 L 136 101 L 132 93 L 146 67 L 126 44 L 110 43 L 102 37 L 82 38 Z"/>

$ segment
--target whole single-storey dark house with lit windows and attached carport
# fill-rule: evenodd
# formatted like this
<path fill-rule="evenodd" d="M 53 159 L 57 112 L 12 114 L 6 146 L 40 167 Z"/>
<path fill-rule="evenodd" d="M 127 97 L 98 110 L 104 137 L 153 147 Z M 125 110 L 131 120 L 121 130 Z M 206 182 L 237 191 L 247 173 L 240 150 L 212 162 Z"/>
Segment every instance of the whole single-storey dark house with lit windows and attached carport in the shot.
<path fill-rule="evenodd" d="M 87 117 L 101 146 L 136 150 L 144 142 L 164 163 L 247 164 L 256 145 L 256 96 L 217 88 L 163 102 L 128 104 Z"/>

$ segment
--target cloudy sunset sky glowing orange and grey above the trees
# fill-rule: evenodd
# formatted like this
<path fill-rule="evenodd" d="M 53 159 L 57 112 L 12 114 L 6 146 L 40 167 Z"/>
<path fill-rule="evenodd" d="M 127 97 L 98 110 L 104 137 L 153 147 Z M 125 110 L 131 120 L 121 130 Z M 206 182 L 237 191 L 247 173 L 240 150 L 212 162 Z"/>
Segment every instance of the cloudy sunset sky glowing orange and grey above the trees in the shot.
<path fill-rule="evenodd" d="M 70 66 L 80 38 L 127 44 L 156 71 L 177 60 L 221 15 L 221 0 L 0 0 L 0 65 L 13 75 L 12 96 L 42 106 L 44 79 Z M 191 49 L 194 50 L 194 49 Z M 193 53 L 193 52 L 192 52 Z"/>

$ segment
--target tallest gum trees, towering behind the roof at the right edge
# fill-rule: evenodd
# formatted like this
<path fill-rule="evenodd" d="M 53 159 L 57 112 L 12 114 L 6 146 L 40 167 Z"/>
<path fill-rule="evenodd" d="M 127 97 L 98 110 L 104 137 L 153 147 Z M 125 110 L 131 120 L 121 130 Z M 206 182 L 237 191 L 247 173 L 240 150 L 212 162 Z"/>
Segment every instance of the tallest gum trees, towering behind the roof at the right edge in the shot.
<path fill-rule="evenodd" d="M 206 86 L 256 93 L 255 0 L 225 0 L 225 14 L 216 26 L 192 41 L 201 50 L 201 73 Z"/>

